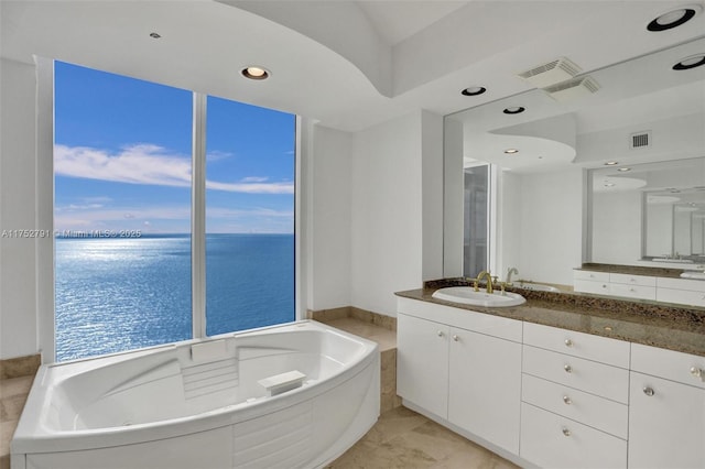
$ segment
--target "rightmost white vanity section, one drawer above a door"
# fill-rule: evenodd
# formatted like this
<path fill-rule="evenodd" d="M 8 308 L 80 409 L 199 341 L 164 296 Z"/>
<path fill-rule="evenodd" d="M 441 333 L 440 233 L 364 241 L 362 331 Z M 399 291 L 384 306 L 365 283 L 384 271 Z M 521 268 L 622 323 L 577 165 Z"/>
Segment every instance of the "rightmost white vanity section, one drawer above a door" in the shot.
<path fill-rule="evenodd" d="M 705 357 L 632 345 L 630 468 L 705 467 Z"/>

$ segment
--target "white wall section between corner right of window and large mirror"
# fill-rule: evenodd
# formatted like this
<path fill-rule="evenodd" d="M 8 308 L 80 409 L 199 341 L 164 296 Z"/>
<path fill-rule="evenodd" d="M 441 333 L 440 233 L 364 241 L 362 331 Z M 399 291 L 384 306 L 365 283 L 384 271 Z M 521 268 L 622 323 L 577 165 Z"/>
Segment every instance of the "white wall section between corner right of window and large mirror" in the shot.
<path fill-rule="evenodd" d="M 379 314 L 395 316 L 394 292 L 419 288 L 424 276 L 423 211 L 442 212 L 442 205 L 433 207 L 422 201 L 423 149 L 442 151 L 437 132 L 440 116 L 424 111 L 375 126 L 357 132 L 352 141 L 351 179 L 351 305 Z M 425 124 L 425 126 L 424 126 Z M 424 132 L 426 127 L 426 132 Z M 430 139 L 429 146 L 423 139 Z M 436 141 L 437 139 L 437 141 Z M 437 153 L 426 155 L 435 161 Z M 434 172 L 429 177 L 441 177 Z M 425 184 L 426 197 L 441 204 L 442 183 Z M 432 215 L 429 214 L 429 217 Z M 443 223 L 435 233 L 426 226 L 427 249 L 442 239 Z M 433 241 L 429 239 L 433 238 Z M 437 246 L 437 244 L 436 244 Z M 442 255 L 438 252 L 438 255 Z M 440 259 L 427 274 L 441 276 Z"/>

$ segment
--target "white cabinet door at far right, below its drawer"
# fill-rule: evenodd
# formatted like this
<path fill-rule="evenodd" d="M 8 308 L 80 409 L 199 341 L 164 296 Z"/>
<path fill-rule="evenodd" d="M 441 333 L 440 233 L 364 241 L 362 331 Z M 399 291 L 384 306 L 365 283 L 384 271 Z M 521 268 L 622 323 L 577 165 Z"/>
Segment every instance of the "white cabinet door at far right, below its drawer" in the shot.
<path fill-rule="evenodd" d="M 705 467 L 705 390 L 631 372 L 630 468 Z"/>

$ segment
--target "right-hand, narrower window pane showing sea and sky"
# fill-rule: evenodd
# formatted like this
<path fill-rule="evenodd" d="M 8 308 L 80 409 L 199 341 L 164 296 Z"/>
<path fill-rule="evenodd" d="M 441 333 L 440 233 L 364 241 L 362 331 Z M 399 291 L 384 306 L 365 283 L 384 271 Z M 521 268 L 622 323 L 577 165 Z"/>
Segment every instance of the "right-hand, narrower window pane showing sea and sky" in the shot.
<path fill-rule="evenodd" d="M 293 116 L 207 109 L 206 334 L 294 320 Z"/>

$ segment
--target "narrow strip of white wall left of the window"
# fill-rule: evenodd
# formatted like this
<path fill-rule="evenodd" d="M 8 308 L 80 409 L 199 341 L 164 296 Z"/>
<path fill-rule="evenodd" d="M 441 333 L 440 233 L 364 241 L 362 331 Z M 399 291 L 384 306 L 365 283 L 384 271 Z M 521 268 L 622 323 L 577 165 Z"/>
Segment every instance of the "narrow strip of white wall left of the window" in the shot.
<path fill-rule="evenodd" d="M 40 228 L 35 88 L 33 65 L 0 59 L 0 232 Z M 34 239 L 0 237 L 0 359 L 39 350 L 35 252 Z"/>

